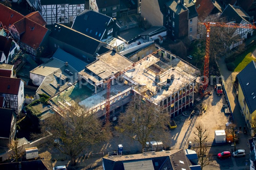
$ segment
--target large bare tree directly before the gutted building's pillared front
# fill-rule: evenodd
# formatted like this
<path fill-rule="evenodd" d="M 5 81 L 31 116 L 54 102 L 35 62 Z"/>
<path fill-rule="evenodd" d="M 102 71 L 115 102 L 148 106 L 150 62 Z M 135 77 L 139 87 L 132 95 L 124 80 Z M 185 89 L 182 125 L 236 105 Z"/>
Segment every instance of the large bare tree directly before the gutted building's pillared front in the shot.
<path fill-rule="evenodd" d="M 120 114 L 117 128 L 120 133 L 140 142 L 142 149 L 146 147 L 147 141 L 153 139 L 164 143 L 167 141 L 169 120 L 165 111 L 145 100 L 141 96 L 133 96 L 126 112 Z"/>

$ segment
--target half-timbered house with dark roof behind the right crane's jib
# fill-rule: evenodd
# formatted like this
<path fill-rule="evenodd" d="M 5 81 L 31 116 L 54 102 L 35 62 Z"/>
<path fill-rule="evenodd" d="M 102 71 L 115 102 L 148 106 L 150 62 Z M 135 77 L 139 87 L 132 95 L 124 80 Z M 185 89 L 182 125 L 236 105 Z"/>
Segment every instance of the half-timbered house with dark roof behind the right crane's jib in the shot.
<path fill-rule="evenodd" d="M 230 24 L 237 23 L 242 26 L 248 25 L 248 24 L 252 25 L 252 23 L 249 21 L 250 16 L 241 7 L 228 5 L 225 8 L 225 10 L 222 12 L 220 17 L 225 18 L 228 22 L 230 22 Z M 237 28 L 234 31 L 233 36 L 240 35 L 242 39 L 246 39 L 252 36 L 252 32 L 253 32 L 253 29 L 251 28 Z M 243 43 L 243 40 L 239 42 L 233 42 L 232 44 L 228 44 L 226 46 L 228 46 L 228 48 L 230 48 L 231 50 L 232 48 L 242 43 Z"/>

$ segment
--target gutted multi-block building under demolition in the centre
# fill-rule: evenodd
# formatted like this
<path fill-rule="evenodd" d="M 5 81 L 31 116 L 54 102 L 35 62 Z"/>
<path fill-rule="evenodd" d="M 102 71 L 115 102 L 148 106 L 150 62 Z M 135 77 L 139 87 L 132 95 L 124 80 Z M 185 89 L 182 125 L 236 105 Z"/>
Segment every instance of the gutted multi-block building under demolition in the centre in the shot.
<path fill-rule="evenodd" d="M 161 52 L 164 53 L 164 51 Z M 94 93 L 79 101 L 74 101 L 85 105 L 99 118 L 104 119 L 106 113 L 105 80 L 113 78 L 116 73 L 132 64 L 131 60 L 115 51 L 98 56 L 97 60 L 78 73 L 79 86 L 86 84 Z M 112 119 L 124 111 L 132 94 L 139 94 L 157 107 L 166 109 L 171 118 L 177 116 L 193 105 L 194 83 L 199 73 L 200 71 L 196 67 L 179 57 L 169 61 L 161 57 L 159 53 L 148 57 L 133 69 L 112 80 L 110 118 Z M 69 88 L 72 89 L 72 87 Z M 65 92 L 67 96 L 66 93 L 69 92 Z M 70 92 L 70 94 L 72 93 Z M 83 92 L 79 95 L 83 95 Z M 68 105 L 70 106 L 70 103 Z"/>

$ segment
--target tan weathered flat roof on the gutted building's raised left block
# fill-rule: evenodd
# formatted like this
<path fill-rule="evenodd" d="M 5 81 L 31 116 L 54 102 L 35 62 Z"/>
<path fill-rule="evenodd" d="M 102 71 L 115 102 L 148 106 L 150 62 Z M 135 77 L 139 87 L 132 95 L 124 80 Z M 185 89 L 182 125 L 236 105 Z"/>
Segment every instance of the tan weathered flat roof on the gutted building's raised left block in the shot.
<path fill-rule="evenodd" d="M 87 65 L 86 69 L 90 70 L 101 79 L 106 79 L 133 64 L 131 60 L 116 53 L 115 51 L 106 52 L 98 58 L 99 59 L 95 62 Z M 83 73 L 84 70 L 81 72 Z"/>

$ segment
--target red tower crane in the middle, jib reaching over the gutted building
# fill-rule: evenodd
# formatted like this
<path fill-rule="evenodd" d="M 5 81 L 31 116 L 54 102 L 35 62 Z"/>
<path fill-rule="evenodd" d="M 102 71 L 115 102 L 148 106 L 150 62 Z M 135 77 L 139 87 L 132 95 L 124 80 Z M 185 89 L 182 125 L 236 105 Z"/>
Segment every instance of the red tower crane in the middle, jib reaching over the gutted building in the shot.
<path fill-rule="evenodd" d="M 134 68 L 136 65 L 142 63 L 143 61 L 145 61 L 146 59 L 148 59 L 149 57 L 155 55 L 156 53 L 158 53 L 159 51 L 161 51 L 161 49 L 156 50 L 155 52 L 147 55 L 146 57 L 142 58 L 141 60 L 137 61 L 136 63 L 133 63 L 131 66 L 125 68 L 122 71 L 117 72 L 116 74 L 114 74 L 112 77 L 110 77 L 108 80 L 104 81 L 104 83 L 107 84 L 107 100 L 106 100 L 106 121 L 109 121 L 109 114 L 110 114 L 110 87 L 111 87 L 111 81 L 115 78 L 117 78 L 118 76 L 124 74 L 126 71 Z"/>

